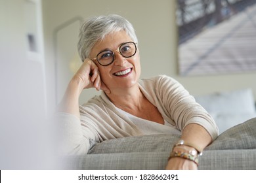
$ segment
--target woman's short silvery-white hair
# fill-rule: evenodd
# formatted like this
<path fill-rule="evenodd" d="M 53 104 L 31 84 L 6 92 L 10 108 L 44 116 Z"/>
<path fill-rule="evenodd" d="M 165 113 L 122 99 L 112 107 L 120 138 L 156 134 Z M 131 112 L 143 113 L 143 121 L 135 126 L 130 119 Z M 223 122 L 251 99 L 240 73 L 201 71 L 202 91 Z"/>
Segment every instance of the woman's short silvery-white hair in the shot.
<path fill-rule="evenodd" d="M 97 41 L 102 41 L 106 35 L 118 31 L 125 31 L 135 43 L 138 43 L 133 25 L 122 16 L 110 14 L 89 18 L 79 29 L 77 50 L 81 60 L 89 57 Z"/>

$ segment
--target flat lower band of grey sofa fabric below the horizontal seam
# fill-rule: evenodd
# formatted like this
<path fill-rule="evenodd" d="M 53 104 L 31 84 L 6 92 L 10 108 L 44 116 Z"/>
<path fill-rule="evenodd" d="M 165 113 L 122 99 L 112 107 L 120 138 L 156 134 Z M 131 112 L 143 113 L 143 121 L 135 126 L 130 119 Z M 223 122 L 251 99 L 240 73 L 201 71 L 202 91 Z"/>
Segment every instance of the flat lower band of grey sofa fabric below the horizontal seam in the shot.
<path fill-rule="evenodd" d="M 168 157 L 169 152 L 89 154 L 83 158 L 76 158 L 67 169 L 161 170 L 165 169 Z M 200 158 L 198 169 L 255 170 L 256 150 L 207 150 Z"/>

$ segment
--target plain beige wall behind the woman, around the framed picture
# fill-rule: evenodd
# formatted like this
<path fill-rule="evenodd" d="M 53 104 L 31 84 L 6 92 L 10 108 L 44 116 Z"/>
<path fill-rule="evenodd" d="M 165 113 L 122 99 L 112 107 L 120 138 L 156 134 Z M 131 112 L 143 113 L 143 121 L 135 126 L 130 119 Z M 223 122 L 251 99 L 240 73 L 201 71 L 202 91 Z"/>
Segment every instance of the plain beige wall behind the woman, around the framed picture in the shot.
<path fill-rule="evenodd" d="M 165 74 L 173 76 L 181 82 L 192 95 L 202 95 L 205 93 L 219 92 L 225 90 L 236 90 L 240 88 L 253 88 L 256 96 L 256 73 L 245 73 L 239 75 L 213 75 L 213 76 L 193 76 L 182 77 L 177 73 L 177 29 L 175 27 L 175 1 L 173 0 L 44 0 L 43 19 L 45 31 L 45 53 L 47 68 L 54 72 L 53 59 L 53 31 L 57 25 L 74 16 L 89 16 L 99 14 L 120 14 L 125 16 L 135 27 L 139 38 L 140 61 L 142 65 L 142 77 Z M 77 41 L 77 26 L 70 25 L 61 31 L 60 37 L 73 37 Z M 68 31 L 68 29 L 70 31 Z M 65 32 L 66 31 L 66 35 Z M 63 34 L 63 35 L 61 35 Z M 69 44 L 70 41 L 66 41 Z M 65 44 L 65 41 L 62 42 Z M 74 58 L 75 43 L 70 44 L 70 48 L 60 50 L 68 55 L 67 61 Z M 60 61 L 61 65 L 62 61 Z M 66 61 L 64 62 L 66 63 Z M 63 65 L 63 68 L 65 66 Z M 63 76 L 63 80 L 68 82 L 72 74 Z M 49 75 L 48 80 L 53 80 L 54 75 Z M 54 92 L 54 82 L 51 84 Z M 60 89 L 61 92 L 64 89 Z M 58 95 L 62 95 L 61 92 Z M 95 90 L 83 93 L 81 103 L 89 97 L 95 95 Z"/>

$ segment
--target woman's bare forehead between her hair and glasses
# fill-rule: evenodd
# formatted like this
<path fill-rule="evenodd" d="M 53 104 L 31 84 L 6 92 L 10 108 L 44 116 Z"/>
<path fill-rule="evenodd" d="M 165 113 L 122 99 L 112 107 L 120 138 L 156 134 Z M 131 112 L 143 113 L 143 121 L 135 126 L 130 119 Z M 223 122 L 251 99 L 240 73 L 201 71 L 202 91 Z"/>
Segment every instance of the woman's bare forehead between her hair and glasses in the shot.
<path fill-rule="evenodd" d="M 127 35 L 125 31 L 118 31 L 115 33 L 110 33 L 104 37 L 101 41 L 97 41 L 93 49 L 91 50 L 91 54 L 100 52 L 102 50 L 116 50 L 120 44 L 124 42 L 132 41 L 131 37 Z"/>

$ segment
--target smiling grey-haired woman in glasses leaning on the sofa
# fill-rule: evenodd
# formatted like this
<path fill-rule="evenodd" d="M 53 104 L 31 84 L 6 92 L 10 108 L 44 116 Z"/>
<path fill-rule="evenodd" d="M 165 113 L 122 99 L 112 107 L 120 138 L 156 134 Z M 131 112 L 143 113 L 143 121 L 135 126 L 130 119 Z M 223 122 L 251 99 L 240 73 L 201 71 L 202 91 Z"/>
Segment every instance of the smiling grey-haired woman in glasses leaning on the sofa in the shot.
<path fill-rule="evenodd" d="M 217 137 L 217 126 L 173 78 L 140 80 L 133 26 L 117 15 L 91 18 L 81 26 L 78 50 L 83 64 L 60 103 L 68 129 L 66 153 L 87 154 L 91 140 L 178 133 L 181 141 L 173 147 L 166 169 L 197 169 L 200 152 Z M 85 88 L 102 93 L 79 106 Z"/>

